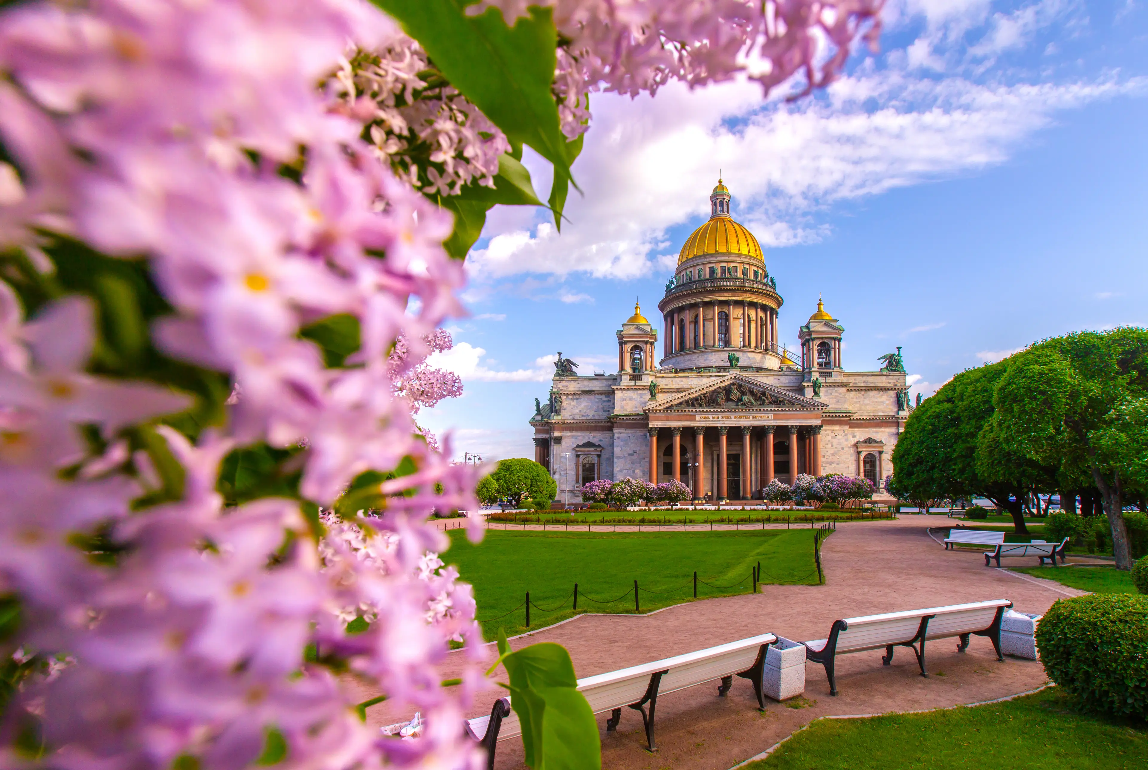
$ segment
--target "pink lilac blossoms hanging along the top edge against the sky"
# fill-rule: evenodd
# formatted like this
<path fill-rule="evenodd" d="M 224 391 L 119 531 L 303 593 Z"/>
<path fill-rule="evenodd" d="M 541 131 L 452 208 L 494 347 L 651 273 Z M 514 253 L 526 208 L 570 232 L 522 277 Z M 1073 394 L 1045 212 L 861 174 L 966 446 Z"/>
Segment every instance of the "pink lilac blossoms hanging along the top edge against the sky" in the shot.
<path fill-rule="evenodd" d="M 554 76 L 563 131 L 585 131 L 591 91 L 636 96 L 670 80 L 690 86 L 739 72 L 768 92 L 798 71 L 806 92 L 832 83 L 862 34 L 876 46 L 884 0 L 482 0 L 511 21 L 553 8 L 560 45 Z M 829 46 L 833 50 L 829 53 Z"/>

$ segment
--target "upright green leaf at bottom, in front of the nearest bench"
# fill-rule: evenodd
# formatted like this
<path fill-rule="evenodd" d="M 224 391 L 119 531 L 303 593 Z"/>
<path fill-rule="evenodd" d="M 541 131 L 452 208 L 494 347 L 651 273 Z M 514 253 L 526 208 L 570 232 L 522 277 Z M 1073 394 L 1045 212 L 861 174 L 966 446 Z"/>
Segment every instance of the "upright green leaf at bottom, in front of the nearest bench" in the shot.
<path fill-rule="evenodd" d="M 598 725 L 577 691 L 566 648 L 544 641 L 509 652 L 503 636 L 498 650 L 510 676 L 511 707 L 522 725 L 526 764 L 535 770 L 599 770 Z"/>

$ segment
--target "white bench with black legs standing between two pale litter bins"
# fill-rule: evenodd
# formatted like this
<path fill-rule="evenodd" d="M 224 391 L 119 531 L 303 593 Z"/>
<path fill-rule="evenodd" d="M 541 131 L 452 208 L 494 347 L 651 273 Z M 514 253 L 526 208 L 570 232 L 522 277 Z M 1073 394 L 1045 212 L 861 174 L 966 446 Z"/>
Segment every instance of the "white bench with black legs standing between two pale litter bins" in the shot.
<path fill-rule="evenodd" d="M 960 637 L 957 652 L 964 652 L 969 646 L 969 635 L 988 637 L 996 650 L 996 659 L 1001 655 L 1001 615 L 1013 602 L 1008 599 L 977 601 L 968 605 L 951 605 L 948 607 L 930 607 L 912 609 L 884 615 L 867 615 L 833 621 L 828 639 L 804 641 L 806 658 L 825 667 L 829 676 L 829 694 L 837 694 L 837 679 L 833 676 L 833 659 L 851 652 L 885 648 L 881 662 L 889 666 L 893 662 L 893 647 L 909 647 L 917 656 L 921 676 L 925 671 L 925 640 Z"/>

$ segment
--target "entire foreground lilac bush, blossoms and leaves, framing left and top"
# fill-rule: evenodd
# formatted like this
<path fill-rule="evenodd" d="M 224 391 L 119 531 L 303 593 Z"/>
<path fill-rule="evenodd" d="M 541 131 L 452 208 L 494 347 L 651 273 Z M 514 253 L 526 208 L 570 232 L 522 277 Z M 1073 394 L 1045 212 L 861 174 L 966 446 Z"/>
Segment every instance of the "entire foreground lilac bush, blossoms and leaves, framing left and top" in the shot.
<path fill-rule="evenodd" d="M 474 602 L 426 524 L 476 477 L 413 420 L 458 392 L 424 364 L 463 313 L 451 257 L 540 203 L 523 145 L 560 217 L 590 91 L 751 60 L 824 85 L 879 0 L 378 6 L 0 11 L 10 763 L 476 767 L 482 671 L 436 668 L 480 655 Z M 348 678 L 421 736 L 369 730 Z M 527 756 L 597 767 L 579 730 Z"/>

